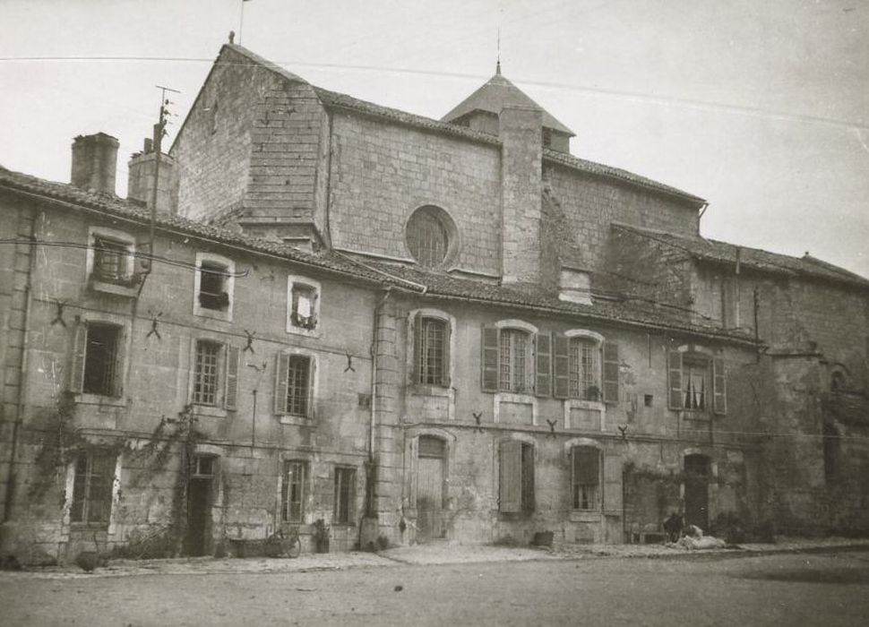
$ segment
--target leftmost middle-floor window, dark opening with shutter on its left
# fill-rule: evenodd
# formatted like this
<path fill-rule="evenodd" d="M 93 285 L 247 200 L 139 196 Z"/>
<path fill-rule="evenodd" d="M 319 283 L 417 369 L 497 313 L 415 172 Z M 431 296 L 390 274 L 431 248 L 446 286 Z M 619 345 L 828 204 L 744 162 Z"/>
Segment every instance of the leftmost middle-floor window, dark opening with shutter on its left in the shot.
<path fill-rule="evenodd" d="M 70 391 L 118 396 L 120 349 L 121 327 L 104 322 L 79 324 L 73 341 Z"/>

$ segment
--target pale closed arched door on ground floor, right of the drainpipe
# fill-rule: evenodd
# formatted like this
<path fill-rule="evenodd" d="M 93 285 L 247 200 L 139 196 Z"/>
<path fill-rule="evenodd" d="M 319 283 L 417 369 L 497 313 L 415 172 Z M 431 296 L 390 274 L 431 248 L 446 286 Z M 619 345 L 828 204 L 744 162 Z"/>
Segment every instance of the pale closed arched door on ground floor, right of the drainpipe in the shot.
<path fill-rule="evenodd" d="M 446 442 L 434 435 L 420 435 L 417 448 L 417 540 L 444 537 L 443 479 Z"/>

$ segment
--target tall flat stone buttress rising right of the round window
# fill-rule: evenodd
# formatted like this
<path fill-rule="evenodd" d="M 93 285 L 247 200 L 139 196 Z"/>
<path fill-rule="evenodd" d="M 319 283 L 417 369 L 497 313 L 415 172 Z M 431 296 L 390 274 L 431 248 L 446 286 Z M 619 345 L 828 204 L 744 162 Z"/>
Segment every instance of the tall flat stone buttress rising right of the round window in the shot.
<path fill-rule="evenodd" d="M 537 283 L 542 213 L 542 111 L 507 105 L 500 116 L 501 273 L 504 283 Z"/>

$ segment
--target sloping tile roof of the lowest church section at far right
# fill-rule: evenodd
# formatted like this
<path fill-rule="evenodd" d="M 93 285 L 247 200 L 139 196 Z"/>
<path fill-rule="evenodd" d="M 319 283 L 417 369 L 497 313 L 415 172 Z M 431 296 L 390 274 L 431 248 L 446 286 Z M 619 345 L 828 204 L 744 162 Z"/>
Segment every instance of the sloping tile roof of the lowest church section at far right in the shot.
<path fill-rule="evenodd" d="M 822 262 L 811 255 L 792 257 L 787 254 L 770 253 L 760 248 L 749 248 L 714 239 L 706 239 L 699 235 L 693 237 L 674 235 L 672 233 L 663 233 L 624 224 L 614 224 L 613 228 L 680 248 L 695 259 L 703 261 L 735 264 L 736 252 L 739 251 L 740 265 L 753 268 L 754 270 L 797 277 L 826 279 L 839 283 L 847 283 L 860 288 L 869 288 L 869 279 L 865 279 L 844 268 L 834 266 L 831 263 Z"/>

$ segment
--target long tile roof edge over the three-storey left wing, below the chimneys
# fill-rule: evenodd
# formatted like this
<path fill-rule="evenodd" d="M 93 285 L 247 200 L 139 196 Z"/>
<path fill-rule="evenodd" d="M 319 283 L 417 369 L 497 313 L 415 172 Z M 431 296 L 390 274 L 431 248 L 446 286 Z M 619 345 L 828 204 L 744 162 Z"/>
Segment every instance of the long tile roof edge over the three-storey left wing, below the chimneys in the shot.
<path fill-rule="evenodd" d="M 118 198 L 113 193 L 84 190 L 65 183 L 55 183 L 36 176 L 13 172 L 0 167 L 0 190 L 37 196 L 47 201 L 64 202 L 71 209 L 97 210 L 107 217 L 128 219 L 141 226 L 151 223 L 151 210 L 136 202 Z M 225 245 L 242 246 L 254 253 L 268 253 L 290 262 L 300 263 L 323 271 L 338 272 L 354 279 L 366 279 L 383 283 L 383 276 L 367 270 L 357 263 L 349 262 L 336 253 L 312 254 L 297 248 L 259 237 L 247 236 L 228 228 L 213 227 L 165 213 L 157 214 L 156 225 L 164 230 Z"/>

